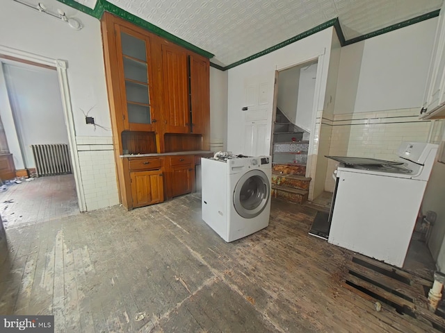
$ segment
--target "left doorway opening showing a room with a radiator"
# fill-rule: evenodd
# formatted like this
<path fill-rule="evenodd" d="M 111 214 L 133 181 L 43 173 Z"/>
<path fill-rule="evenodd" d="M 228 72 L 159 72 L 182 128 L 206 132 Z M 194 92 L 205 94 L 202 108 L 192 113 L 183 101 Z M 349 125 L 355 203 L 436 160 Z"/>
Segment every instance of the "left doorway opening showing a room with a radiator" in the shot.
<path fill-rule="evenodd" d="M 5 224 L 12 226 L 79 213 L 68 154 L 68 122 L 56 67 L 11 58 L 0 58 L 0 67 L 3 99 L 0 119 L 15 171 L 13 179 L 1 179 L 0 205 Z M 43 146 L 49 149 L 44 161 L 31 148 Z M 52 149 L 60 146 L 67 147 L 67 153 Z M 60 168 L 63 163 L 69 163 L 70 167 Z M 54 172 L 44 173 L 43 167 Z M 35 178 L 36 174 L 48 177 Z"/>

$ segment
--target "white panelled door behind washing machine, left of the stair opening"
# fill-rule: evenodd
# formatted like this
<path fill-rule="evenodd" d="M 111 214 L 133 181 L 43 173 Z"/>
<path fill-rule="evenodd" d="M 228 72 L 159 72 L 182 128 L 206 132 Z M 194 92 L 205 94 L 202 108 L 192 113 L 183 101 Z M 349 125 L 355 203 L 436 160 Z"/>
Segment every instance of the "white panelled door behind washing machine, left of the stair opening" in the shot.
<path fill-rule="evenodd" d="M 248 78 L 244 85 L 243 154 L 269 155 L 273 84 L 266 78 Z"/>

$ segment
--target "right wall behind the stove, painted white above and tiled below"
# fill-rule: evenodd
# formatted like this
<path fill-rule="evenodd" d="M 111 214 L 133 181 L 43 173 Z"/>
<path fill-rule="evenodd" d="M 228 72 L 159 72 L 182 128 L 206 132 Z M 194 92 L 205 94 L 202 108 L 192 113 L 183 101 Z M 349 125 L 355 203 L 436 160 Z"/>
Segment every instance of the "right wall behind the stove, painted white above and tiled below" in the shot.
<path fill-rule="evenodd" d="M 341 48 L 329 155 L 392 160 L 402 141 L 426 141 L 419 121 L 437 18 Z M 328 161 L 325 190 L 333 191 Z"/>

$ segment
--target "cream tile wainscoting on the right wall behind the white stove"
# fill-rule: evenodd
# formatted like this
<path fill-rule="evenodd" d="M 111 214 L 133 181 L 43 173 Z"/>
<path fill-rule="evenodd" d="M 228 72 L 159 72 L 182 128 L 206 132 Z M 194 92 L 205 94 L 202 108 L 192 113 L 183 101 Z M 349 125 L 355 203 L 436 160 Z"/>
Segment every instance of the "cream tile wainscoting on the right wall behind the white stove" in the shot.
<path fill-rule="evenodd" d="M 334 114 L 323 119 L 332 126 L 329 155 L 394 160 L 403 141 L 426 142 L 431 121 L 419 120 L 419 108 Z M 325 191 L 334 191 L 332 172 L 338 162 L 327 161 Z"/>

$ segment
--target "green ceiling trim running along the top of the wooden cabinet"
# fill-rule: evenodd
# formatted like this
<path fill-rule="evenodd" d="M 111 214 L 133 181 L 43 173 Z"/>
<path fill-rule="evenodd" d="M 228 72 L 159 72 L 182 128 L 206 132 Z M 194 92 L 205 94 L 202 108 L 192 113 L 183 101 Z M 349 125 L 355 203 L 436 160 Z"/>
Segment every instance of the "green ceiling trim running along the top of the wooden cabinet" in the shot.
<path fill-rule="evenodd" d="M 185 40 L 181 40 L 181 38 L 176 37 L 175 35 L 172 35 L 171 33 L 168 33 L 167 31 L 159 28 L 159 26 L 155 26 L 154 24 L 151 24 L 144 19 L 141 19 L 140 17 L 137 17 L 136 15 L 131 14 L 130 12 L 127 12 L 123 10 L 122 8 L 119 8 L 118 6 L 113 5 L 113 3 L 109 3 L 106 0 L 101 0 L 104 3 L 104 10 L 106 12 L 111 12 L 111 14 L 117 15 L 118 17 L 121 17 L 122 19 L 127 20 L 128 22 L 131 22 L 133 24 L 136 24 L 136 26 L 140 26 L 141 28 L 144 28 L 145 30 L 149 31 L 150 33 L 154 33 L 156 35 L 159 35 L 166 40 L 170 40 L 170 42 L 174 42 L 175 44 L 184 47 L 185 49 L 188 49 L 190 51 L 193 51 L 197 54 L 200 54 L 201 56 L 204 56 L 206 58 L 213 58 L 214 54 L 207 52 L 203 49 L 200 49 L 199 47 L 186 42 Z"/>

